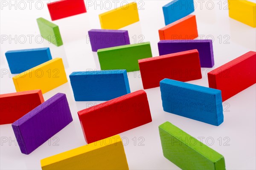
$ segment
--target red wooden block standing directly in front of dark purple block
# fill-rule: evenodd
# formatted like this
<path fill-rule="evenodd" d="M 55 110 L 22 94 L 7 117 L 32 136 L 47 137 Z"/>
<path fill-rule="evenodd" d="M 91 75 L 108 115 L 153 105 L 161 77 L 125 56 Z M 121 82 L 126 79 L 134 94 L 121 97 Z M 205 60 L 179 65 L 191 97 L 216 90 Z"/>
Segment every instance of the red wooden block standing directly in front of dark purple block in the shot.
<path fill-rule="evenodd" d="M 140 59 L 139 65 L 144 89 L 159 87 L 165 78 L 182 82 L 202 78 L 197 50 Z"/>

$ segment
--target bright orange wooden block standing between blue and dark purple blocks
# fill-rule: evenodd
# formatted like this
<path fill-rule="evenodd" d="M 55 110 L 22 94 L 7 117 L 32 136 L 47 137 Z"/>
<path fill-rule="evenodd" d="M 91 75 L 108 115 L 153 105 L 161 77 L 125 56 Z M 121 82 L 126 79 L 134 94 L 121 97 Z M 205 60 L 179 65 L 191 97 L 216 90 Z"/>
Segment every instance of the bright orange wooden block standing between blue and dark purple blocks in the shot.
<path fill-rule="evenodd" d="M 198 37 L 195 15 L 188 15 L 158 30 L 160 40 L 193 40 Z"/>

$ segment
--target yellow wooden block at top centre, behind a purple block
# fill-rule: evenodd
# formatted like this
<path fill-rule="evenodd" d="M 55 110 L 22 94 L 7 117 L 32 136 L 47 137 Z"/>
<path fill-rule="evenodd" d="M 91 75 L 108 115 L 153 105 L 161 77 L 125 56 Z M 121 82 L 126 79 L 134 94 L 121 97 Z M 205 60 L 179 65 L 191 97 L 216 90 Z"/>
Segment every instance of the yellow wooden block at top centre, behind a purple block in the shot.
<path fill-rule="evenodd" d="M 102 29 L 120 29 L 140 20 L 137 3 L 129 3 L 111 11 L 99 14 Z"/>

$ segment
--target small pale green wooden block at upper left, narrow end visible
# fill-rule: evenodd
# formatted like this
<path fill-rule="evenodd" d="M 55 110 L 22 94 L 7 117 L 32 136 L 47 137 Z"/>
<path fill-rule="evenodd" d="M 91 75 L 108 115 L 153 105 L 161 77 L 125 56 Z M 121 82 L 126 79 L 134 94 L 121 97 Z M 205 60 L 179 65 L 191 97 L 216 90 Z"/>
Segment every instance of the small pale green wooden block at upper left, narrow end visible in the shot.
<path fill-rule="evenodd" d="M 44 18 L 37 19 L 38 27 L 41 33 L 41 36 L 56 46 L 63 45 L 61 39 L 61 33 L 58 26 L 54 23 L 49 22 Z"/>

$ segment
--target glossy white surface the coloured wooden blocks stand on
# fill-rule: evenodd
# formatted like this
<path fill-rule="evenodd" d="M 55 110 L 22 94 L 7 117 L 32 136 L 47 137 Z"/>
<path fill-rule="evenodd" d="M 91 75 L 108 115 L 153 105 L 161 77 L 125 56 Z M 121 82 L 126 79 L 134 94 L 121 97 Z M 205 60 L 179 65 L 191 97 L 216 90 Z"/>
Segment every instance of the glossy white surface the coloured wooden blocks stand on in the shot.
<path fill-rule="evenodd" d="M 104 4 L 108 8 L 109 3 L 87 1 L 86 4 L 93 4 L 93 6 L 87 6 L 87 13 L 54 21 L 53 23 L 60 28 L 64 42 L 63 46 L 56 47 L 46 40 L 39 43 L 41 42 L 40 37 L 35 40 L 35 37 L 40 35 L 36 19 L 44 17 L 50 20 L 46 6 L 49 1 L 40 1 L 37 4 L 37 1 L 32 1 L 31 9 L 29 2 L 23 1 L 26 4 L 24 10 L 21 9 L 24 5 L 20 1 L 8 0 L 5 1 L 8 5 L 2 6 L 3 1 L 5 0 L 1 0 L 0 12 L 1 94 L 15 92 L 15 86 L 12 82 L 13 75 L 9 73 L 4 55 L 8 50 L 50 47 L 53 58 L 61 57 L 64 60 L 67 76 L 73 71 L 99 70 L 97 54 L 91 51 L 90 43 L 87 40 L 87 31 L 92 28 L 100 28 L 98 14 L 107 11 L 104 9 Z M 16 6 L 10 6 L 10 3 L 15 4 L 15 2 Z M 108 2 L 111 3 L 111 9 L 113 9 L 114 2 Z M 167 0 L 137 1 L 138 6 L 141 7 L 139 10 L 140 22 L 122 28 L 129 31 L 131 43 L 139 42 L 142 37 L 145 37 L 143 42 L 150 41 L 153 56 L 159 55 L 157 50 L 158 29 L 165 26 L 162 6 L 168 2 Z M 95 6 L 96 3 L 102 3 L 102 5 Z M 117 6 L 120 6 L 120 3 L 121 1 L 117 1 Z M 42 9 L 40 9 L 41 4 L 43 4 Z M 205 39 L 207 36 L 208 39 L 214 38 L 214 68 L 248 51 L 256 51 L 255 28 L 229 18 L 228 10 L 225 8 L 227 6 L 226 1 L 213 0 L 208 2 L 203 0 L 201 3 L 195 1 L 195 4 L 196 9 L 193 14 L 196 15 L 197 19 L 198 34 L 201 39 Z M 29 41 L 29 36 L 33 35 L 34 37 Z M 3 36 L 8 36 L 8 40 L 3 40 Z M 15 40 L 9 42 L 9 36 L 17 42 Z M 25 42 L 24 37 L 26 37 Z M 208 87 L 207 72 L 210 70 L 209 68 L 202 68 L 203 78 L 190 83 Z M 8 74 L 4 74 L 6 71 Z M 131 92 L 143 89 L 139 72 L 129 73 L 129 82 Z M 163 157 L 158 126 L 166 121 L 180 127 L 197 139 L 201 138 L 204 144 L 221 153 L 225 158 L 227 169 L 256 169 L 255 87 L 253 85 L 223 103 L 224 122 L 219 127 L 166 113 L 162 108 L 160 88 L 145 90 L 148 95 L 153 122 L 120 134 L 124 144 L 127 143 L 125 144 L 125 152 L 130 169 L 179 169 Z M 44 99 L 47 100 L 58 92 L 67 94 L 73 122 L 57 133 L 55 138 L 49 139 L 48 142 L 45 142 L 29 155 L 20 153 L 11 124 L 1 125 L 1 169 L 41 169 L 41 159 L 86 144 L 77 111 L 87 108 L 91 103 L 98 104 L 100 102 L 75 102 L 70 81 L 44 94 Z M 54 142 L 56 143 L 54 144 Z"/>

